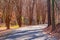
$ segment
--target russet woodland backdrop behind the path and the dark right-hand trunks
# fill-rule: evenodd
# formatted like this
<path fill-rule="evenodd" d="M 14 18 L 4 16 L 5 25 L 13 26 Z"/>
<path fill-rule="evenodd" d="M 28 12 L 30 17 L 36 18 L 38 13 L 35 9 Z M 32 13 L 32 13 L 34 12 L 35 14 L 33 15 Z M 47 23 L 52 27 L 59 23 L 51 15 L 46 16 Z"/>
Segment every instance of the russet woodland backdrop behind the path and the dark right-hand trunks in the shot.
<path fill-rule="evenodd" d="M 52 0 L 51 0 L 52 1 Z M 52 20 L 52 2 L 48 10 L 47 0 L 0 0 L 0 24 L 39 25 Z M 49 12 L 50 14 L 49 14 Z M 54 2 L 55 24 L 60 22 L 59 3 Z M 50 17 L 48 17 L 50 16 Z"/>

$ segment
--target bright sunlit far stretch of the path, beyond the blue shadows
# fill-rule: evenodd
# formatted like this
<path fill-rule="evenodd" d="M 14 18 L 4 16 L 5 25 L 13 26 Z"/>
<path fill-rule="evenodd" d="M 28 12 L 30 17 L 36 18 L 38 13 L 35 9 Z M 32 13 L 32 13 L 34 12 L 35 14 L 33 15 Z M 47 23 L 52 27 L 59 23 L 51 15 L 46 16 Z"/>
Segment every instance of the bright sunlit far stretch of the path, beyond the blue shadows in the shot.
<path fill-rule="evenodd" d="M 46 27 L 47 27 L 47 24 L 40 24 L 40 25 L 21 27 L 17 30 L 34 30 L 34 29 L 43 29 L 43 28 L 46 28 Z"/>

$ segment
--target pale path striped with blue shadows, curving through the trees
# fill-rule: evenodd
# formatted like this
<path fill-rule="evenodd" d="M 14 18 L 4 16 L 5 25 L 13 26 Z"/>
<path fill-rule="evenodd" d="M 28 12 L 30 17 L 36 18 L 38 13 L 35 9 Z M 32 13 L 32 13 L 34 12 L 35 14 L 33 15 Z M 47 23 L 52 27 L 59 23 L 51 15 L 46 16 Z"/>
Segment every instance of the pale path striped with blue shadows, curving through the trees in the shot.
<path fill-rule="evenodd" d="M 51 37 L 41 30 L 45 27 L 47 25 L 21 27 L 16 29 L 5 40 L 57 40 L 55 37 Z"/>

